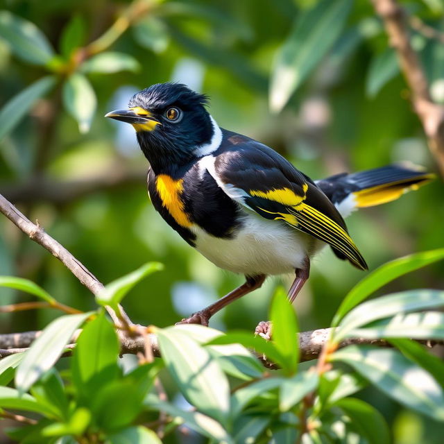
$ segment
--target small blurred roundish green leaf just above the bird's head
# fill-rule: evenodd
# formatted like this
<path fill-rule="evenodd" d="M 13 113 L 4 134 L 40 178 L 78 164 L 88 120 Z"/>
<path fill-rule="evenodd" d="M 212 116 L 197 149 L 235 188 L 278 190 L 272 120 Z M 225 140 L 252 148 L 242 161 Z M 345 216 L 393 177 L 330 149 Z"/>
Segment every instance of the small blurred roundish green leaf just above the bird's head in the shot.
<path fill-rule="evenodd" d="M 146 17 L 133 26 L 136 42 L 146 49 L 160 54 L 167 49 L 169 43 L 168 28 L 156 17 Z"/>

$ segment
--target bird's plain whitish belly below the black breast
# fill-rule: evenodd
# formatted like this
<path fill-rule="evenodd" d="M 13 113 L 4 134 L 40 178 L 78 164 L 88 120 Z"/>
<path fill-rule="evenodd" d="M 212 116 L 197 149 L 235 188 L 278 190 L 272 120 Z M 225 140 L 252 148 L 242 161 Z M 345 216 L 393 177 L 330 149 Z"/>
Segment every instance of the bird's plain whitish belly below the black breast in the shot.
<path fill-rule="evenodd" d="M 304 264 L 324 244 L 281 221 L 247 213 L 231 239 L 222 239 L 194 226 L 196 250 L 225 270 L 246 275 L 289 273 Z"/>

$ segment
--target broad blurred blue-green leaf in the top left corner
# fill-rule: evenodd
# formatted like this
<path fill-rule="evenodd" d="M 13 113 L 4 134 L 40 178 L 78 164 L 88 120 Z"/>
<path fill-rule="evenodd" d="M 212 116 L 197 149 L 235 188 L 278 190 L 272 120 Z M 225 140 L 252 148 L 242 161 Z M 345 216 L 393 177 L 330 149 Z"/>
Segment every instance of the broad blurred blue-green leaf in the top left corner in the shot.
<path fill-rule="evenodd" d="M 0 35 L 26 62 L 46 65 L 54 56 L 51 44 L 35 24 L 6 10 L 0 11 Z"/>

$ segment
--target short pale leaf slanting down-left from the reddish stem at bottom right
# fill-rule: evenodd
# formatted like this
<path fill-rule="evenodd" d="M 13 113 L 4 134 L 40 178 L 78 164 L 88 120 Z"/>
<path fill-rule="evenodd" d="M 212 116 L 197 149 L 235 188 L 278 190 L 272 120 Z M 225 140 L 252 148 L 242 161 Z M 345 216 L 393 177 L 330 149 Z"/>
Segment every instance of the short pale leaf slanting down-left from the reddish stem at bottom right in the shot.
<path fill-rule="evenodd" d="M 318 373 L 313 370 L 308 370 L 285 379 L 280 386 L 279 392 L 280 411 L 289 411 L 293 406 L 298 404 L 305 395 L 314 391 L 318 383 Z"/>

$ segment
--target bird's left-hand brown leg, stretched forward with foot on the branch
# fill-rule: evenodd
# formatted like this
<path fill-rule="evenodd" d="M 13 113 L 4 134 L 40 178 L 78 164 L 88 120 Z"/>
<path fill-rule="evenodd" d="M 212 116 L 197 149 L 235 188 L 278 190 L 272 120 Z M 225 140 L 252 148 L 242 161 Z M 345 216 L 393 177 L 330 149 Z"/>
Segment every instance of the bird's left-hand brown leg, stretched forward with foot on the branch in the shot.
<path fill-rule="evenodd" d="M 230 291 L 230 293 L 228 293 L 227 295 L 223 296 L 223 298 L 214 302 L 214 304 L 209 305 L 203 310 L 196 311 L 196 313 L 189 316 L 189 318 L 182 319 L 182 321 L 176 323 L 176 325 L 200 324 L 200 325 L 205 325 L 205 327 L 207 327 L 208 321 L 210 320 L 211 316 L 213 316 L 220 309 L 223 309 L 225 305 L 228 305 L 234 300 L 237 300 L 242 296 L 245 296 L 246 294 L 250 293 L 251 291 L 254 291 L 259 287 L 261 287 L 262 284 L 264 283 L 265 278 L 266 278 L 265 275 L 246 276 L 245 284 L 242 284 L 240 287 L 237 287 L 237 289 Z"/>

